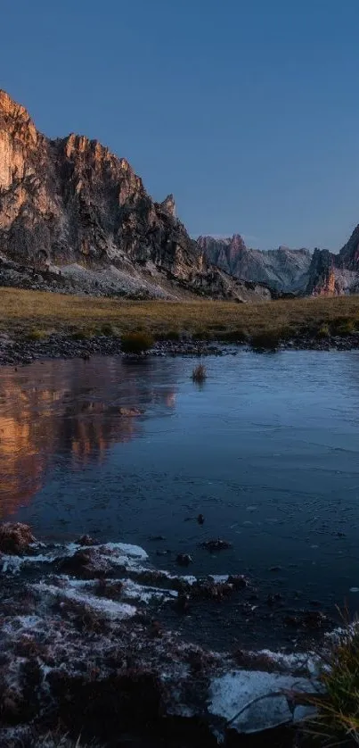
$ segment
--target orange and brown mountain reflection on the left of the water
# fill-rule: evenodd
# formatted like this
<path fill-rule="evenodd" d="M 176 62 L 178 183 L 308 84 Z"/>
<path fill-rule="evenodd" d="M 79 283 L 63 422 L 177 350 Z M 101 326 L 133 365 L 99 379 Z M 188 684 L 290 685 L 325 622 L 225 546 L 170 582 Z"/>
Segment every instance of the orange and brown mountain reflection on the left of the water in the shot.
<path fill-rule="evenodd" d="M 111 444 L 141 436 L 153 403 L 174 409 L 175 391 L 151 364 L 98 359 L 2 370 L 0 519 L 30 503 L 54 455 L 82 470 L 105 460 Z"/>

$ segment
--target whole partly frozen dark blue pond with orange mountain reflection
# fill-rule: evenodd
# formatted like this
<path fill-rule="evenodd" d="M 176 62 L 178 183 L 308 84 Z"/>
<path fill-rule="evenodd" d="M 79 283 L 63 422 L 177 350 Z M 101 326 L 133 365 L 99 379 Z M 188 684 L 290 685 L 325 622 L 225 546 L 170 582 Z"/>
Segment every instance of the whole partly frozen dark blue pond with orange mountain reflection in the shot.
<path fill-rule="evenodd" d="M 193 573 L 247 571 L 293 604 L 355 606 L 359 354 L 206 364 L 201 388 L 181 358 L 1 369 L 1 519 L 140 544 L 167 569 L 191 553 Z M 233 548 L 199 547 L 216 536 Z"/>

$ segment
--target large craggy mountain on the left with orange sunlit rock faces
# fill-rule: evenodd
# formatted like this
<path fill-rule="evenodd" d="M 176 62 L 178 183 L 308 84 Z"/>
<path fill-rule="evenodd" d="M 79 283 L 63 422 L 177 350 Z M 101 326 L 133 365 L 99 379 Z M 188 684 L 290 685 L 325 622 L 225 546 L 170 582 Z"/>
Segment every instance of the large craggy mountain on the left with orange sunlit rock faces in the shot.
<path fill-rule="evenodd" d="M 271 297 L 211 267 L 124 158 L 78 135 L 51 140 L 0 91 L 0 283 L 94 294 Z"/>

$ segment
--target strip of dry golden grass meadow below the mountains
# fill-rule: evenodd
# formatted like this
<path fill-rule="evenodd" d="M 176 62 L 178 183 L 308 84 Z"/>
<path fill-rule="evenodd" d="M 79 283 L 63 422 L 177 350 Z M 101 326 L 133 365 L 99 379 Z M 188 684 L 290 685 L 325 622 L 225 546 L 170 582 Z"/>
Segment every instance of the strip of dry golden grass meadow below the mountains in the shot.
<path fill-rule="evenodd" d="M 241 339 L 266 331 L 283 337 L 307 328 L 359 327 L 359 295 L 239 304 L 229 302 L 134 302 L 0 288 L 0 329 L 78 330 L 91 335 L 147 330 L 154 337 L 188 331 L 199 337 Z"/>

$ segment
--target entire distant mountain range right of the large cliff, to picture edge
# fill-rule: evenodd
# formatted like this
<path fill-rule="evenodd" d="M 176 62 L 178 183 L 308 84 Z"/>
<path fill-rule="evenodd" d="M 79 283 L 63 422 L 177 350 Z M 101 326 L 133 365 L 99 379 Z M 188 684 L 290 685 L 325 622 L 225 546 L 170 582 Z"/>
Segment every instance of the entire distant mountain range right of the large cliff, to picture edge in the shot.
<path fill-rule="evenodd" d="M 265 283 L 277 294 L 344 295 L 359 290 L 359 226 L 339 254 L 327 249 L 249 249 L 242 237 L 199 237 L 207 259 L 241 280 Z"/>

